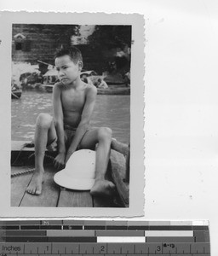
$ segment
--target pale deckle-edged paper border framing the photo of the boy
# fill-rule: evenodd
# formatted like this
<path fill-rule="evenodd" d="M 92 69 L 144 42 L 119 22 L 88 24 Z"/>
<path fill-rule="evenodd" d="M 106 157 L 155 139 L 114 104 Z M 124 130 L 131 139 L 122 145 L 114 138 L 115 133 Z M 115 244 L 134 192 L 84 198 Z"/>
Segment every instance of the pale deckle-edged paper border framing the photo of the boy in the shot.
<path fill-rule="evenodd" d="M 10 207 L 11 45 L 13 24 L 79 24 L 132 26 L 130 94 L 130 183 L 128 208 Z M 103 13 L 0 13 L 1 70 L 1 218 L 139 217 L 144 215 L 144 18 Z"/>

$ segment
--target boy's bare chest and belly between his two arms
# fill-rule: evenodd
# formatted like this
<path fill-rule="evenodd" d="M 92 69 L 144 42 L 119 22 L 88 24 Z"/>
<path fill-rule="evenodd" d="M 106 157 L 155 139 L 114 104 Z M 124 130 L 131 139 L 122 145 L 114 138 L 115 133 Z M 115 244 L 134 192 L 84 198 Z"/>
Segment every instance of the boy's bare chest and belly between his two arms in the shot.
<path fill-rule="evenodd" d="M 81 121 L 87 91 L 90 86 L 89 84 L 83 83 L 77 89 L 74 89 L 72 87 L 64 88 L 59 84 L 64 125 L 77 128 Z"/>

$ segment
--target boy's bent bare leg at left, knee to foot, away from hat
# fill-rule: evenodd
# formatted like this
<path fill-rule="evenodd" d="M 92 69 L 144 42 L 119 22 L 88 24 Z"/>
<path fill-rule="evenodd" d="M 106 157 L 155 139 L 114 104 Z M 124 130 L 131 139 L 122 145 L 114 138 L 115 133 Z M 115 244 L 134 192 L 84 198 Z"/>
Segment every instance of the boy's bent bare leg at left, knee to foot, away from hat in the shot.
<path fill-rule="evenodd" d="M 35 172 L 32 182 L 26 192 L 32 195 L 40 195 L 43 183 L 43 160 L 47 143 L 52 143 L 56 138 L 53 118 L 48 113 L 40 113 L 37 117 L 35 143 Z"/>

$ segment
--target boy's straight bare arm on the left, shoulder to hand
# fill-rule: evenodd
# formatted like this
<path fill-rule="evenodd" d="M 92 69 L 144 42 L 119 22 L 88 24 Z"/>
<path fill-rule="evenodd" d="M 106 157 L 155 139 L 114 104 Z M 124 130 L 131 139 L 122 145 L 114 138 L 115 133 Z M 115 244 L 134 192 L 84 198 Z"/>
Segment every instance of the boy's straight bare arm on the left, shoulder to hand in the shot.
<path fill-rule="evenodd" d="M 64 138 L 64 125 L 63 125 L 63 110 L 60 101 L 61 90 L 58 84 L 54 85 L 53 89 L 53 111 L 54 111 L 54 121 L 57 132 L 58 139 L 58 155 L 54 159 L 54 166 L 58 169 L 64 167 L 66 147 Z"/>

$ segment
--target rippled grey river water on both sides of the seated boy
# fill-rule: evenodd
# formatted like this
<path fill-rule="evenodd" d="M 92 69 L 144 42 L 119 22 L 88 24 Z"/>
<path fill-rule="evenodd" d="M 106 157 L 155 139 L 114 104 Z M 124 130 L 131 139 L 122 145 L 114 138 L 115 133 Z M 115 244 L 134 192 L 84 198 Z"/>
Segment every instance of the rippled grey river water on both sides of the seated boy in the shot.
<path fill-rule="evenodd" d="M 112 137 L 129 143 L 130 96 L 97 96 L 91 126 L 106 126 L 112 129 Z M 52 114 L 52 94 L 44 91 L 23 91 L 20 100 L 11 101 L 11 125 L 14 141 L 32 140 L 39 113 Z"/>

